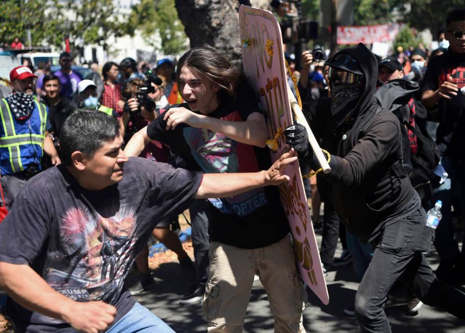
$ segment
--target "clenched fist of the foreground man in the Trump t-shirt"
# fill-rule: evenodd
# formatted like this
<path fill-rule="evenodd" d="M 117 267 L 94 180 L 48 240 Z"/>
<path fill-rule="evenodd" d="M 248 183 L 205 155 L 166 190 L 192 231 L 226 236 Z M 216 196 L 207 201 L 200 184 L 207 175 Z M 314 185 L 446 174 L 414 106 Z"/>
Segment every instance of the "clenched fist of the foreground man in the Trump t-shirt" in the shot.
<path fill-rule="evenodd" d="M 78 331 L 98 333 L 113 323 L 116 307 L 102 301 L 73 302 L 63 319 Z"/>

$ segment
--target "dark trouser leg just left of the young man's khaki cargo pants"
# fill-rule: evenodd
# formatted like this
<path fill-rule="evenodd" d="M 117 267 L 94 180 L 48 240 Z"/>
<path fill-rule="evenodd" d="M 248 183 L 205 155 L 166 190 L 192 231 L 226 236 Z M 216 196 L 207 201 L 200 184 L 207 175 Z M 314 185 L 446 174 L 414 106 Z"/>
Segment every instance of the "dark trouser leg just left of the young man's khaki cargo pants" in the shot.
<path fill-rule="evenodd" d="M 194 248 L 197 279 L 201 284 L 207 283 L 208 278 L 208 249 L 210 237 L 208 233 L 210 204 L 207 200 L 196 199 L 189 207 L 192 224 L 192 247 Z"/>

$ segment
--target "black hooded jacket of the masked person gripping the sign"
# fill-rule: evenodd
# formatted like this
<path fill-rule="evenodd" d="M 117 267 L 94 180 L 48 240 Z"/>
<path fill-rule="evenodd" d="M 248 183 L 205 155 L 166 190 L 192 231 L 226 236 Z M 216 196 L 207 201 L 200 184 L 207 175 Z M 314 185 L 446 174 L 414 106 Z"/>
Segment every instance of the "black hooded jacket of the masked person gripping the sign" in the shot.
<path fill-rule="evenodd" d="M 333 183 L 338 215 L 350 232 L 365 241 L 390 217 L 412 210 L 416 194 L 402 168 L 401 123 L 389 110 L 405 105 L 418 87 L 402 80 L 400 85 L 376 91 L 378 64 L 374 55 L 363 44 L 341 52 L 358 61 L 366 79 L 350 120 L 333 124 L 329 99 L 304 104 L 303 111 L 315 136 L 322 139 L 322 148 L 331 154 L 331 172 L 323 177 Z M 375 92 L 389 97 L 383 108 L 377 104 Z"/>

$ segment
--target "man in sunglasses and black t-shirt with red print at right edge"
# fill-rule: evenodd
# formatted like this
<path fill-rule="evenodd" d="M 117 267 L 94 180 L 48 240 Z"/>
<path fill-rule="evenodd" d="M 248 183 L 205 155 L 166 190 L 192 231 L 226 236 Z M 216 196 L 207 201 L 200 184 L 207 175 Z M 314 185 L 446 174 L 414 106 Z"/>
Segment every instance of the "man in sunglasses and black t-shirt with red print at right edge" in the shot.
<path fill-rule="evenodd" d="M 453 193 L 460 188 L 463 193 L 465 188 L 465 8 L 447 14 L 445 36 L 449 49 L 428 64 L 422 102 L 429 110 L 439 108 L 436 142 L 442 155 L 441 165 L 449 174 L 449 179 L 435 191 L 435 200 L 442 201 L 442 220 L 434 242 L 441 257 L 436 275 L 450 283 L 464 283 L 465 250 L 462 246 L 460 254 L 454 240 L 451 205 Z M 454 210 L 463 213 L 464 196 L 458 195 L 457 202 L 460 207 Z"/>

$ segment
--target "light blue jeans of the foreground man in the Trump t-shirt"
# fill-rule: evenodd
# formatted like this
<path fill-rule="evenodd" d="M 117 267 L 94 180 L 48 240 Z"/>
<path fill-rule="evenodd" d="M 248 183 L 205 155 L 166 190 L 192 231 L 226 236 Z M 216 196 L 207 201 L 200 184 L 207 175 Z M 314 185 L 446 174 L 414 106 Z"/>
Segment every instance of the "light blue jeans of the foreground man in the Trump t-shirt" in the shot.
<path fill-rule="evenodd" d="M 151 313 L 148 308 L 139 303 L 134 304 L 131 310 L 124 315 L 106 333 L 131 333 L 131 332 L 158 332 L 174 333 L 174 331 L 160 318 Z"/>

